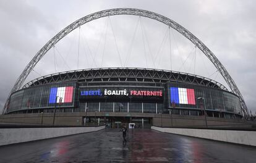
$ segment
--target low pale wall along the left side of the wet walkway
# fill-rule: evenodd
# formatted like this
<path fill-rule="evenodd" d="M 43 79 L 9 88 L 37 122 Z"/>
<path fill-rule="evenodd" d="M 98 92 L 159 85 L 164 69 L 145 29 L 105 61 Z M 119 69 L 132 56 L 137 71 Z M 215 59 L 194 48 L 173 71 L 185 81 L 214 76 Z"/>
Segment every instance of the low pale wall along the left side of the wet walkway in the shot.
<path fill-rule="evenodd" d="M 0 128 L 0 146 L 102 130 L 100 127 Z"/>

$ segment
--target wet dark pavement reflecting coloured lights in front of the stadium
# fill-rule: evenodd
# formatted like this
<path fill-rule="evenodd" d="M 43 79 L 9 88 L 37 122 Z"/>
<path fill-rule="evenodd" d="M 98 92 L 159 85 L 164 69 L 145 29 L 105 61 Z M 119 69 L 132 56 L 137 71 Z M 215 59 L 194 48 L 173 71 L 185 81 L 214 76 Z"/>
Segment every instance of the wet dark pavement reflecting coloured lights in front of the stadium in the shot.
<path fill-rule="evenodd" d="M 150 129 L 130 129 L 122 144 L 106 129 L 0 146 L 0 162 L 256 162 L 256 148 Z"/>

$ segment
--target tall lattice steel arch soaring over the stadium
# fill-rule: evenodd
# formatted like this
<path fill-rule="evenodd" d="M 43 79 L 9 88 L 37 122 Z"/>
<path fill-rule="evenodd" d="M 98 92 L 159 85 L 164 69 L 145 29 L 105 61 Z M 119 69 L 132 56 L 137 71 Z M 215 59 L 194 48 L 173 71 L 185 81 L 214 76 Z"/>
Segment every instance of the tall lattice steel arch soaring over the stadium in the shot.
<path fill-rule="evenodd" d="M 207 46 L 205 46 L 205 44 L 202 43 L 202 41 L 200 41 L 196 36 L 190 33 L 190 31 L 188 31 L 186 28 L 182 27 L 181 25 L 169 19 L 168 17 L 164 17 L 163 15 L 156 14 L 155 12 L 150 12 L 148 10 L 131 8 L 101 10 L 99 12 L 95 12 L 93 14 L 82 17 L 81 19 L 76 20 L 75 22 L 68 25 L 63 30 L 59 31 L 59 33 L 56 36 L 49 40 L 48 43 L 46 43 L 45 46 L 43 46 L 43 48 L 41 48 L 40 51 L 36 53 L 32 61 L 30 61 L 28 65 L 25 67 L 22 74 L 15 82 L 14 87 L 12 88 L 11 93 L 7 98 L 6 104 L 3 109 L 3 113 L 6 112 L 11 94 L 14 93 L 14 91 L 20 89 L 28 74 L 33 70 L 37 62 L 40 61 L 40 59 L 46 54 L 47 51 L 49 51 L 49 49 L 51 49 L 54 46 L 54 44 L 58 43 L 58 41 L 64 38 L 64 36 L 69 34 L 71 31 L 75 30 L 76 28 L 80 27 L 81 25 L 95 19 L 100 19 L 101 17 L 108 17 L 112 15 L 137 15 L 147 17 L 149 19 L 157 20 L 158 22 L 164 23 L 169 27 L 173 28 L 174 30 L 178 31 L 179 33 L 181 33 L 181 35 L 185 36 L 188 40 L 195 44 L 195 46 L 197 46 L 197 48 L 199 48 L 203 52 L 203 54 L 205 54 L 205 56 L 208 57 L 208 59 L 213 63 L 213 65 L 215 65 L 216 69 L 223 76 L 231 91 L 237 96 L 239 96 L 244 116 L 249 117 L 250 114 L 245 104 L 244 98 L 242 97 L 242 94 L 238 90 L 233 78 L 231 78 L 225 67 L 221 64 L 221 62 L 217 59 L 213 52 L 211 52 L 210 49 L 208 49 Z"/>

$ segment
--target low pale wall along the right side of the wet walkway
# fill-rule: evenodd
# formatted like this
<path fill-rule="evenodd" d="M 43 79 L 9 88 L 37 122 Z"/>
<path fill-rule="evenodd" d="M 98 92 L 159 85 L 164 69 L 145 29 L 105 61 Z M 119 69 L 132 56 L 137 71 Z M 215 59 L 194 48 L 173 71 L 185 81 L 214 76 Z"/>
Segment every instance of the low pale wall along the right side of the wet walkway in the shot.
<path fill-rule="evenodd" d="M 210 129 L 192 129 L 192 128 L 161 128 L 151 127 L 153 130 L 165 133 L 174 133 L 179 135 L 194 136 L 209 140 L 224 141 L 229 143 L 245 144 L 256 146 L 256 132 L 254 131 L 236 131 L 236 130 L 210 130 Z"/>

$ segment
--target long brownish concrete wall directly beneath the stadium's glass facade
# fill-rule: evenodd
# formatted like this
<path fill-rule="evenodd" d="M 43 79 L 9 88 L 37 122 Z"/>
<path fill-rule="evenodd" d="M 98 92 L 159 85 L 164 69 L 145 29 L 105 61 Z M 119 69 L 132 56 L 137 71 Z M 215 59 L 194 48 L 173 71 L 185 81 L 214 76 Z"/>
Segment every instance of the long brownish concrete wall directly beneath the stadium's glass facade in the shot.
<path fill-rule="evenodd" d="M 151 117 L 153 125 L 161 127 L 205 127 L 204 116 L 192 115 L 169 115 L 151 114 L 139 112 L 87 112 L 87 117 Z M 85 112 L 56 112 L 54 125 L 83 125 Z M 4 114 L 0 115 L 0 123 L 32 123 L 51 125 L 53 124 L 53 113 L 33 113 L 33 114 Z M 245 121 L 242 119 L 221 119 L 217 117 L 207 117 L 208 127 L 235 127 L 252 128 L 256 122 Z"/>

